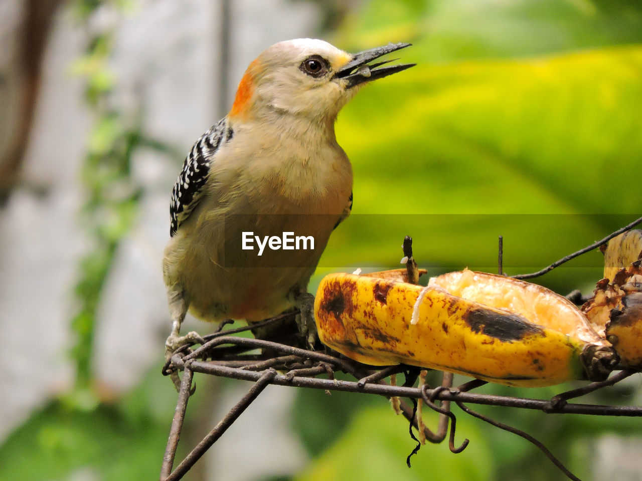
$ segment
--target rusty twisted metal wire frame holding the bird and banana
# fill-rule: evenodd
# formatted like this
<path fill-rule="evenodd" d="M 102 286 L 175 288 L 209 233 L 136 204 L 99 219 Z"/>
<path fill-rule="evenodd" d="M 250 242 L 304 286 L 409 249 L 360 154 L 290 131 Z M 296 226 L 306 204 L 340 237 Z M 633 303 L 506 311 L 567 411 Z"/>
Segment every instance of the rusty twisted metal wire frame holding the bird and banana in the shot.
<path fill-rule="evenodd" d="M 592 249 L 605 244 L 607 241 L 626 230 L 630 230 L 636 224 L 642 222 L 642 217 L 639 217 L 629 225 L 621 228 L 620 230 L 612 233 L 604 239 L 594 242 L 584 249 L 568 255 L 556 262 L 545 267 L 541 271 L 532 274 L 521 274 L 513 276 L 514 278 L 534 278 L 548 273 L 555 267 L 568 262 L 572 258 L 578 257 Z M 404 255 L 408 257 L 406 267 L 408 269 L 408 278 L 412 279 L 416 271 L 416 264 L 412 258 L 412 239 L 406 237 L 404 239 Z M 498 271 L 502 272 L 502 257 L 503 257 L 503 238 L 499 237 L 498 244 Z M 261 325 L 281 321 L 287 317 L 293 316 L 295 313 L 290 312 L 282 314 L 273 319 L 263 321 Z M 619 373 L 612 375 L 605 381 L 594 382 L 579 389 L 572 391 L 562 392 L 553 396 L 549 400 L 541 400 L 534 398 L 518 398 L 513 396 L 496 396 L 493 394 L 477 394 L 469 392 L 476 387 L 486 384 L 485 381 L 473 380 L 458 387 L 452 386 L 452 375 L 444 373 L 444 380 L 441 386 L 431 389 L 428 385 L 420 385 L 413 387 L 412 385 L 390 385 L 385 382 L 385 378 L 397 373 L 412 371 L 417 369 L 410 366 L 389 366 L 382 369 L 372 371 L 372 367 L 364 366 L 358 362 L 335 357 L 327 353 L 318 351 L 308 351 L 277 342 L 264 341 L 261 339 L 247 339 L 241 337 L 231 336 L 231 333 L 238 333 L 248 328 L 239 328 L 223 332 L 222 329 L 227 323 L 221 323 L 219 330 L 212 335 L 205 337 L 206 341 L 203 346 L 196 350 L 191 350 L 189 346 L 183 346 L 177 350 L 170 360 L 163 367 L 163 374 L 169 375 L 171 372 L 178 370 L 183 371 L 183 378 L 178 392 L 178 401 L 175 414 L 172 420 L 171 429 L 169 433 L 168 444 L 166 447 L 165 455 L 163 457 L 162 467 L 160 471 L 160 481 L 176 481 L 182 478 L 189 469 L 204 455 L 214 443 L 223 435 L 229 426 L 238 419 L 245 409 L 256 400 L 257 396 L 270 384 L 284 385 L 290 387 L 307 387 L 309 389 L 323 389 L 325 391 L 347 391 L 362 394 L 379 394 L 386 398 L 404 397 L 410 398 L 413 401 L 413 408 L 410 408 L 406 403 L 400 403 L 401 413 L 410 421 L 410 434 L 413 439 L 416 439 L 412 434 L 413 427 L 415 429 L 421 428 L 427 441 L 431 443 L 440 443 L 446 439 L 448 425 L 450 424 L 449 435 L 449 448 L 453 453 L 460 453 L 465 449 L 469 440 L 465 439 L 459 447 L 455 447 L 455 431 L 456 431 L 456 417 L 450 410 L 450 403 L 454 402 L 463 412 L 481 419 L 491 425 L 500 429 L 507 430 L 514 434 L 523 437 L 530 443 L 533 443 L 539 448 L 548 459 L 557 466 L 557 468 L 571 480 L 580 481 L 573 473 L 571 473 L 560 460 L 558 460 L 542 443 L 537 441 L 534 437 L 526 434 L 513 426 L 508 426 L 504 423 L 490 419 L 483 414 L 475 412 L 465 405 L 465 403 L 475 403 L 483 405 L 494 405 L 502 407 L 513 407 L 517 409 L 532 409 L 541 410 L 547 414 L 585 414 L 589 416 L 629 416 L 629 417 L 642 417 L 642 407 L 638 406 L 613 406 L 613 405 L 593 405 L 582 403 L 568 403 L 568 400 L 587 394 L 588 392 L 597 391 L 603 387 L 614 385 L 628 376 L 634 374 L 635 371 L 623 369 Z M 256 327 L 257 325 L 253 326 Z M 230 351 L 223 348 L 223 344 L 230 344 L 236 350 Z M 279 352 L 282 355 L 272 356 L 262 359 L 257 355 L 239 355 L 239 352 L 247 350 L 268 350 L 272 353 Z M 211 360 L 205 360 L 211 359 Z M 285 373 L 279 373 L 277 369 Z M 356 381 L 337 380 L 334 378 L 334 371 L 343 371 L 349 375 L 354 376 Z M 197 444 L 197 446 L 182 460 L 176 469 L 173 468 L 176 450 L 178 446 L 178 439 L 182 430 L 183 422 L 185 419 L 187 401 L 189 396 L 195 392 L 193 387 L 193 373 L 203 373 L 214 376 L 223 376 L 227 378 L 247 380 L 254 382 L 250 390 L 239 400 L 239 402 L 230 409 L 228 414 L 216 425 L 213 430 L 205 436 L 205 438 Z M 316 378 L 318 375 L 325 374 L 325 378 Z M 416 377 L 416 375 L 415 375 Z M 413 378 L 406 373 L 406 384 L 408 379 Z M 440 413 L 438 421 L 437 432 L 431 432 L 421 422 L 418 422 L 416 416 L 417 400 L 421 400 L 429 408 Z M 441 406 L 438 406 L 435 401 L 441 401 Z M 419 416 L 421 418 L 421 415 Z M 410 466 L 410 457 L 419 449 L 419 445 L 408 456 L 408 466 Z"/>

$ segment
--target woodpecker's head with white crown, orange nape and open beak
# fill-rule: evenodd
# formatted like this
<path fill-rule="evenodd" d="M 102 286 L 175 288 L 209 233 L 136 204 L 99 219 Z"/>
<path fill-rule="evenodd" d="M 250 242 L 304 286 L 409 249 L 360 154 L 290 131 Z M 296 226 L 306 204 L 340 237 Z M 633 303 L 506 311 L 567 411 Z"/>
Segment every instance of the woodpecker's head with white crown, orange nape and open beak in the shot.
<path fill-rule="evenodd" d="M 247 121 L 290 114 L 333 122 L 361 85 L 415 65 L 381 67 L 391 60 L 369 64 L 409 45 L 389 44 L 349 54 L 311 38 L 274 44 L 250 63 L 230 117 Z"/>

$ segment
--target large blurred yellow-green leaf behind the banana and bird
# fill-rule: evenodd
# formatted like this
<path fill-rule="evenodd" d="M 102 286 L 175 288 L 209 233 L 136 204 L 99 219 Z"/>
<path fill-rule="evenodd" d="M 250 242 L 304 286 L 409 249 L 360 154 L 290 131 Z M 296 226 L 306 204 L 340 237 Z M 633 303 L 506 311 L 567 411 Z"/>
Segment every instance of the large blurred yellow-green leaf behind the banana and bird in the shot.
<path fill-rule="evenodd" d="M 641 110 L 639 46 L 418 65 L 377 81 L 338 120 L 354 208 L 320 265 L 393 266 L 411 235 L 422 266 L 494 270 L 503 235 L 506 271 L 544 267 L 638 216 L 626 185 L 642 158 Z M 593 252 L 546 282 L 594 282 L 602 262 Z"/>

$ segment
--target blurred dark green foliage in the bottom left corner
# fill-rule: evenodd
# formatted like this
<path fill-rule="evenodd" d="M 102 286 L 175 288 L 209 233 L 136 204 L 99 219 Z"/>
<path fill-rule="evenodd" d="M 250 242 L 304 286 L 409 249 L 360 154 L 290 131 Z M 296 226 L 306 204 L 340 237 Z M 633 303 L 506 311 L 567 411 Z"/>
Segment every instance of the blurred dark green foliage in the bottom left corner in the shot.
<path fill-rule="evenodd" d="M 91 409 L 50 401 L 3 443 L 0 479 L 157 478 L 175 407 L 175 396 L 157 395 L 167 381 L 155 370 L 125 398 Z"/>

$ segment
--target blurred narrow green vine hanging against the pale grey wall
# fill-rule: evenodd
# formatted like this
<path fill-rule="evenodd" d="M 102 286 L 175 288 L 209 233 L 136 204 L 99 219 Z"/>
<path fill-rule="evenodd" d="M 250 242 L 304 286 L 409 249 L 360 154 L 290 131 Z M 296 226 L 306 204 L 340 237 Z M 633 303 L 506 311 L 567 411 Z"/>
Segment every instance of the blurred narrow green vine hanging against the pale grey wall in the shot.
<path fill-rule="evenodd" d="M 74 8 L 83 22 L 92 12 L 111 4 L 114 13 L 125 9 L 126 1 L 77 0 Z M 71 357 L 76 364 L 76 387 L 70 394 L 82 405 L 92 402 L 92 350 L 94 323 L 100 294 L 114 261 L 119 242 L 136 220 L 143 186 L 132 178 L 132 156 L 140 148 L 174 154 L 172 149 L 141 130 L 140 119 L 126 119 L 113 100 L 116 78 L 109 67 L 114 42 L 110 28 L 89 28 L 87 47 L 71 66 L 85 81 L 84 96 L 94 115 L 94 126 L 87 139 L 87 153 L 81 181 L 87 199 L 80 213 L 80 224 L 92 241 L 92 248 L 80 261 L 76 284 L 78 312 L 71 321 L 76 343 Z M 89 404 L 87 404 L 89 403 Z"/>

